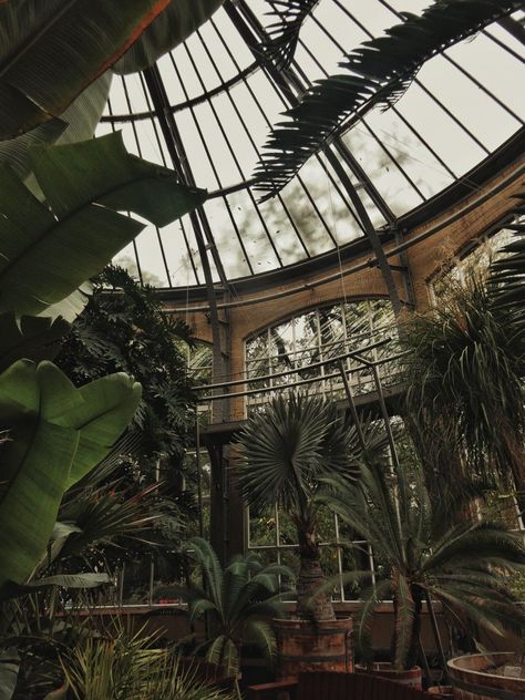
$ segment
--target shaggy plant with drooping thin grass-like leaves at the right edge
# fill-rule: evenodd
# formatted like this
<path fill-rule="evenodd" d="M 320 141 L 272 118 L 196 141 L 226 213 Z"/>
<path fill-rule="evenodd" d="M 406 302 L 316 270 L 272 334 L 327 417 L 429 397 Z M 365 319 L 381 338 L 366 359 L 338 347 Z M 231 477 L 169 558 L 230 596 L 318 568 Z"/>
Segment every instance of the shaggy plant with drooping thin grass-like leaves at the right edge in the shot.
<path fill-rule="evenodd" d="M 403 329 L 411 432 L 436 494 L 465 475 L 498 475 L 525 493 L 525 238 L 513 226 L 486 271 L 450 280 L 439 305 Z"/>

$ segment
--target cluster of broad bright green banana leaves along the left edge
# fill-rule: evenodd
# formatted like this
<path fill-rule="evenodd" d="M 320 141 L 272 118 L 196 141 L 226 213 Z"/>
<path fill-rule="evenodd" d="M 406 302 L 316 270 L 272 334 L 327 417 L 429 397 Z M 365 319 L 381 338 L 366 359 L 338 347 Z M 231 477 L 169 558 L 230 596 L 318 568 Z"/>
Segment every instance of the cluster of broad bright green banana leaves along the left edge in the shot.
<path fill-rule="evenodd" d="M 33 146 L 29 158 L 47 205 L 9 165 L 0 165 L 0 430 L 7 436 L 0 446 L 0 594 L 3 589 L 4 595 L 13 584 L 31 585 L 64 492 L 106 456 L 141 397 L 140 385 L 124 374 L 75 389 L 45 361 L 68 328 L 63 316 L 71 295 L 144 227 L 119 212 L 133 212 L 164 226 L 205 198 L 204 192 L 179 185 L 173 172 L 130 155 L 120 134 L 64 146 Z M 101 575 L 81 578 L 68 583 L 90 586 L 106 580 Z"/>

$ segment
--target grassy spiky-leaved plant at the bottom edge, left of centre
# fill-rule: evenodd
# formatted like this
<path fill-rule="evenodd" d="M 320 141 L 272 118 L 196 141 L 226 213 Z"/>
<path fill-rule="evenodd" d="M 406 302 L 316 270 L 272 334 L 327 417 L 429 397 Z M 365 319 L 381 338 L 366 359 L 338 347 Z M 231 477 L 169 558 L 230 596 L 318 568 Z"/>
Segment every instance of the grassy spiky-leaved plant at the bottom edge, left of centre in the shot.
<path fill-rule="evenodd" d="M 65 653 L 62 667 L 76 700 L 231 700 L 198 678 L 197 663 L 183 667 L 179 657 L 159 648 L 158 635 L 144 628 L 132 634 L 119 620 Z"/>

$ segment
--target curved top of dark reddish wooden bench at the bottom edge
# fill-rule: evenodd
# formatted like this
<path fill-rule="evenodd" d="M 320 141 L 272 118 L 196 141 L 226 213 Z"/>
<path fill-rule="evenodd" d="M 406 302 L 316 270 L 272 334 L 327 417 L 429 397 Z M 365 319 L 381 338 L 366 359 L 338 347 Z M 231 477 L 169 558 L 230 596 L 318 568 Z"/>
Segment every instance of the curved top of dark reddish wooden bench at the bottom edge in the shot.
<path fill-rule="evenodd" d="M 275 683 L 250 686 L 249 700 L 430 700 L 431 696 L 410 686 L 367 673 L 299 673 Z"/>

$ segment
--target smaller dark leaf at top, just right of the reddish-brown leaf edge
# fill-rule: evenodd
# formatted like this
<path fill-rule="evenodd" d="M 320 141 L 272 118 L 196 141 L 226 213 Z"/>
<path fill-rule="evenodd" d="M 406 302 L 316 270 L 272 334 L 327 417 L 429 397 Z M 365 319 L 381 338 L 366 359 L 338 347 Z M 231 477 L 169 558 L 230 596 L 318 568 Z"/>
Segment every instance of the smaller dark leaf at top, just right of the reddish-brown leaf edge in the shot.
<path fill-rule="evenodd" d="M 135 73 L 192 34 L 223 4 L 224 0 L 171 0 L 133 47 L 115 63 L 115 73 Z"/>

